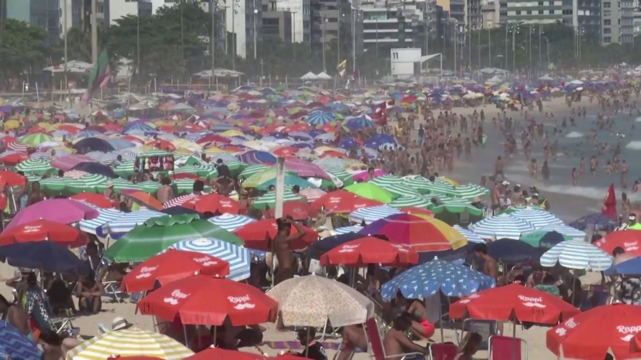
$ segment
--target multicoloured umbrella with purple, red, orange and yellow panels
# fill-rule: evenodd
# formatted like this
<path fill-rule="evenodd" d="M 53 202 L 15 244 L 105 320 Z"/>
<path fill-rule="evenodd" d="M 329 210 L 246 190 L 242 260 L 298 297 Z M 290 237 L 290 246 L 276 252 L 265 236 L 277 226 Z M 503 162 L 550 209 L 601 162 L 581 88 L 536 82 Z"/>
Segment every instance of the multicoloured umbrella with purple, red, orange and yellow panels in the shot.
<path fill-rule="evenodd" d="M 385 235 L 392 243 L 408 245 L 419 252 L 455 250 L 467 244 L 467 238 L 450 225 L 432 217 L 406 213 L 376 220 L 359 233 Z"/>

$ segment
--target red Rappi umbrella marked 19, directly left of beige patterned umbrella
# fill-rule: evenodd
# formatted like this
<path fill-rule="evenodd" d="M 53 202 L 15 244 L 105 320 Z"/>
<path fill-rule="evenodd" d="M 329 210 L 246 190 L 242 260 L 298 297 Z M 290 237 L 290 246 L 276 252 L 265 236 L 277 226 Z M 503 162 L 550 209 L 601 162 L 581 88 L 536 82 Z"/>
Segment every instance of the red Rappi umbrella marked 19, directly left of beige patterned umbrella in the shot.
<path fill-rule="evenodd" d="M 194 275 L 154 290 L 138 302 L 143 314 L 183 324 L 220 326 L 274 322 L 278 303 L 254 286 Z"/>

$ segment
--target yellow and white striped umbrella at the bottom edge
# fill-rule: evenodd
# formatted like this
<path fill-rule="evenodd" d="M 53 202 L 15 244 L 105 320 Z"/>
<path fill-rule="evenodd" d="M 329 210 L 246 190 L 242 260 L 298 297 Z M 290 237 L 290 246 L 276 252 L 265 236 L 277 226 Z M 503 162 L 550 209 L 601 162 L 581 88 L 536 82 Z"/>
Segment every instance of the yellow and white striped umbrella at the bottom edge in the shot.
<path fill-rule="evenodd" d="M 100 334 L 67 352 L 65 360 L 104 360 L 110 354 L 157 356 L 165 360 L 181 360 L 194 354 L 169 336 L 137 327 Z"/>

